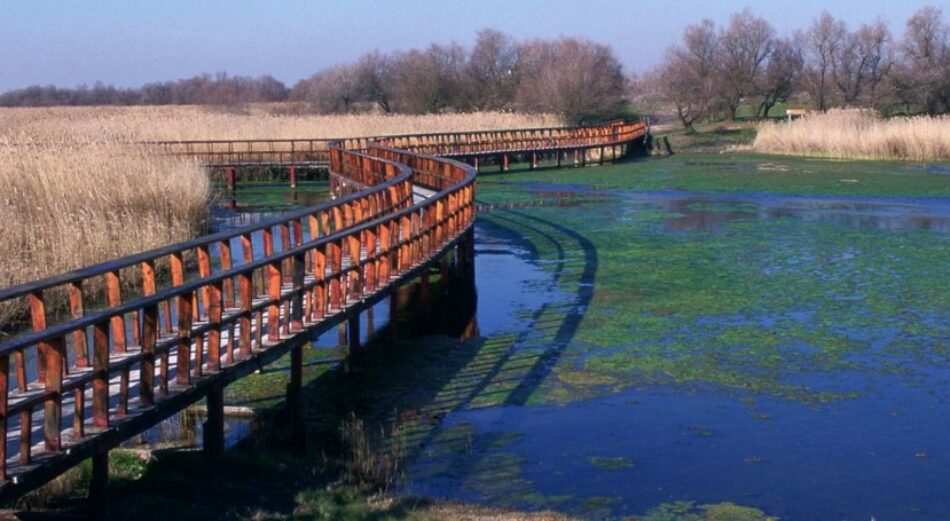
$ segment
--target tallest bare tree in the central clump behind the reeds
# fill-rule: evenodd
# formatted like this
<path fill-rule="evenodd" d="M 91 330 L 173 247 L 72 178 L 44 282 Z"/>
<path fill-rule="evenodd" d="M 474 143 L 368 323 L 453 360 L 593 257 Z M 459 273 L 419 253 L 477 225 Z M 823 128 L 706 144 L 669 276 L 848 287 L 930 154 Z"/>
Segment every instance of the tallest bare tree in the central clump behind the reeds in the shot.
<path fill-rule="evenodd" d="M 478 32 L 468 60 L 475 107 L 498 110 L 511 104 L 518 85 L 518 44 L 494 29 Z"/>

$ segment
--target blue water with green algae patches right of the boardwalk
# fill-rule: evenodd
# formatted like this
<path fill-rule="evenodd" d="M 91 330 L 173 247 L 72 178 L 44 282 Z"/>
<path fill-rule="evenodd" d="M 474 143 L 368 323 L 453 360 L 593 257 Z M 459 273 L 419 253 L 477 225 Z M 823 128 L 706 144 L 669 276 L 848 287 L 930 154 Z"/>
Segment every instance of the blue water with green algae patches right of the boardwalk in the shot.
<path fill-rule="evenodd" d="M 354 383 L 406 424 L 399 491 L 593 518 L 950 517 L 945 168 L 696 155 L 480 177 L 481 337 L 379 346 Z"/>

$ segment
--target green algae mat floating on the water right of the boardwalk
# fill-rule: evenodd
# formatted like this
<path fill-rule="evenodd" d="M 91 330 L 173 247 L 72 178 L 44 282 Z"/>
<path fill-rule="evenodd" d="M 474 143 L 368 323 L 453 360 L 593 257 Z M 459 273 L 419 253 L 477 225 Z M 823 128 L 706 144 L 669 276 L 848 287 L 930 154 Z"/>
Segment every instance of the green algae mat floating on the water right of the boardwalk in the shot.
<path fill-rule="evenodd" d="M 576 400 L 638 384 L 712 383 L 824 402 L 858 389 L 813 387 L 822 372 L 876 374 L 887 371 L 883 361 L 894 353 L 942 352 L 932 339 L 946 329 L 932 317 L 950 309 L 935 289 L 950 272 L 933 259 L 950 253 L 945 234 L 912 220 L 908 229 L 885 233 L 901 221 L 878 225 L 873 208 L 860 205 L 836 217 L 823 207 L 849 208 L 847 199 L 823 206 L 821 199 L 783 202 L 781 194 L 946 196 L 944 176 L 883 164 L 858 172 L 853 163 L 799 159 L 766 169 L 762 159 L 674 157 L 483 179 L 482 201 L 517 203 L 562 190 L 614 194 L 596 204 L 581 200 L 569 212 L 531 206 L 483 216 L 524 237 L 539 259 L 556 260 L 543 266 L 574 296 L 549 306 L 559 310 L 551 321 L 574 321 L 573 327 L 549 329 L 553 338 L 529 336 L 538 349 L 558 351 L 558 378 L 544 382 L 531 401 Z M 839 169 L 855 182 L 840 182 Z M 545 184 L 535 184 L 540 179 Z M 573 184 L 580 179 L 591 188 Z M 642 192 L 663 189 L 693 193 Z M 716 189 L 776 195 L 695 193 Z M 868 337 L 890 341 L 871 350 Z"/>

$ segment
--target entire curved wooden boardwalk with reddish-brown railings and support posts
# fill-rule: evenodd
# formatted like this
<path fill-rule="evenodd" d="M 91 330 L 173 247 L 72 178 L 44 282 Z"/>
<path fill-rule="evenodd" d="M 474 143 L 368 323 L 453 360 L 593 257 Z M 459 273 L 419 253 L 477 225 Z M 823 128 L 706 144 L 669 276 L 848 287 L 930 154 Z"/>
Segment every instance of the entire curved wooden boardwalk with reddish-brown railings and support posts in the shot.
<path fill-rule="evenodd" d="M 481 158 L 497 156 L 506 167 L 509 155 L 520 154 L 534 166 L 547 154 L 560 165 L 570 154 L 586 158 L 599 150 L 602 161 L 622 157 L 645 134 L 642 123 L 617 122 L 338 141 L 156 144 L 212 167 L 323 162 L 338 198 L 0 290 L 0 303 L 28 303 L 32 326 L 0 343 L 0 500 L 92 457 L 91 494 L 94 505 L 101 503 L 95 500 L 104 491 L 108 451 L 203 398 L 206 449 L 223 450 L 224 386 L 287 352 L 293 420 L 301 349 L 315 334 L 347 322 L 350 338 L 358 339 L 361 311 L 450 251 L 461 270 L 472 269 Z M 52 294 L 68 295 L 69 309 L 49 309 Z M 350 355 L 357 349 L 351 343 Z"/>

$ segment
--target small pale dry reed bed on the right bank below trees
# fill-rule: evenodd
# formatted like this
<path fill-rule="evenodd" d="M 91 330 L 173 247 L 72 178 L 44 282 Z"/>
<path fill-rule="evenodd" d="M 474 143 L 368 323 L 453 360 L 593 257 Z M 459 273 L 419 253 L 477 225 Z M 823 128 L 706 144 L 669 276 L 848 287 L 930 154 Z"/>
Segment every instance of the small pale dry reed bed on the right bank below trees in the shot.
<path fill-rule="evenodd" d="M 842 159 L 950 161 L 950 117 L 881 119 L 842 109 L 759 126 L 756 152 Z"/>

